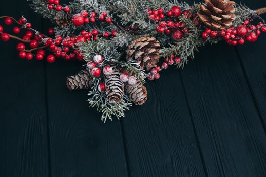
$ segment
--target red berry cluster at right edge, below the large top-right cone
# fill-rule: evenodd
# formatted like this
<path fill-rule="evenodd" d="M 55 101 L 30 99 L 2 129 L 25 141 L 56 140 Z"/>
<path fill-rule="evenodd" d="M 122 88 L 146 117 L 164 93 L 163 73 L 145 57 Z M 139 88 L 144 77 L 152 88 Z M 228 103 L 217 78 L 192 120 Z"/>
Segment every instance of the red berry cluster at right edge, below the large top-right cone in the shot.
<path fill-rule="evenodd" d="M 237 44 L 243 45 L 245 41 L 255 42 L 258 36 L 262 32 L 266 32 L 266 25 L 262 22 L 258 25 L 251 25 L 249 20 L 244 20 L 243 25 L 237 27 L 231 27 L 224 29 L 222 31 L 212 31 L 211 29 L 206 29 L 205 32 L 201 34 L 201 37 L 207 42 L 212 38 L 219 37 L 229 45 L 236 46 Z"/>

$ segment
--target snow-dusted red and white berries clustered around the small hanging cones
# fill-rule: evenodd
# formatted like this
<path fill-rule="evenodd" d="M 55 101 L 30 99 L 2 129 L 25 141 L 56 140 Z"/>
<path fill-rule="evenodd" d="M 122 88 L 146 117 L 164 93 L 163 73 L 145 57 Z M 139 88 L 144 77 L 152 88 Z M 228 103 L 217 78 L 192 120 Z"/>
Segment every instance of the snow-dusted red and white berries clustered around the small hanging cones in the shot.
<path fill-rule="evenodd" d="M 92 61 L 87 62 L 87 67 L 90 69 L 90 74 L 93 77 L 100 77 L 102 73 L 106 76 L 109 76 L 113 73 L 112 67 L 108 65 L 103 67 L 101 70 L 101 67 L 99 65 L 102 64 L 103 60 L 104 59 L 101 55 L 95 55 Z M 130 85 L 134 85 L 137 82 L 136 77 L 133 75 L 129 76 L 128 73 L 121 73 L 120 80 L 122 82 L 127 82 Z M 98 90 L 100 92 L 105 92 L 105 84 L 100 83 L 98 85 Z"/>

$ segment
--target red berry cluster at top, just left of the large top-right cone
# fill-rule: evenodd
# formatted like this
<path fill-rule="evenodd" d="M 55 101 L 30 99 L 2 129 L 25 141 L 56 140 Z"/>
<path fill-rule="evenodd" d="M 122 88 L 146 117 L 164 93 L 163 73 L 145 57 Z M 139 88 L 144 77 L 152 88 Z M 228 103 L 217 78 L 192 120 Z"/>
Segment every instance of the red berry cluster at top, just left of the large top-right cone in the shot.
<path fill-rule="evenodd" d="M 187 11 L 181 10 L 178 6 L 173 6 L 169 11 L 164 13 L 163 9 L 151 10 L 147 9 L 149 19 L 158 22 L 156 31 L 159 33 L 171 34 L 171 37 L 175 40 L 181 39 L 184 34 L 189 32 L 186 25 L 180 22 L 178 17 L 180 15 L 186 15 L 188 18 L 194 18 L 194 15 Z"/>

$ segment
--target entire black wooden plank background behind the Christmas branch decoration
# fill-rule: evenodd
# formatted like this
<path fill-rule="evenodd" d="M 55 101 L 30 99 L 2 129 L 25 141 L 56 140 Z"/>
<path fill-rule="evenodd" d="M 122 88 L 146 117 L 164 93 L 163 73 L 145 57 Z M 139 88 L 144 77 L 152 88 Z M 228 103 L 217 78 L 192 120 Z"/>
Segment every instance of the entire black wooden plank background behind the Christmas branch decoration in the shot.
<path fill-rule="evenodd" d="M 1 16 L 22 14 L 51 27 L 28 2 L 1 2 Z M 148 82 L 145 105 L 105 124 L 88 91 L 66 88 L 81 63 L 26 61 L 16 41 L 0 42 L 0 176 L 266 176 L 265 40 L 207 45 Z"/>

